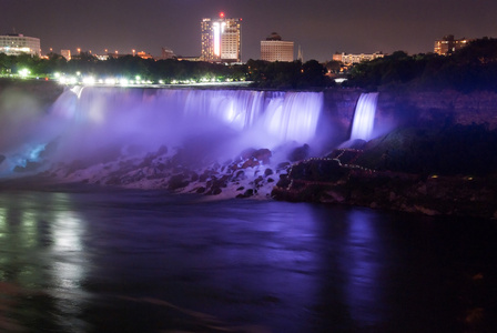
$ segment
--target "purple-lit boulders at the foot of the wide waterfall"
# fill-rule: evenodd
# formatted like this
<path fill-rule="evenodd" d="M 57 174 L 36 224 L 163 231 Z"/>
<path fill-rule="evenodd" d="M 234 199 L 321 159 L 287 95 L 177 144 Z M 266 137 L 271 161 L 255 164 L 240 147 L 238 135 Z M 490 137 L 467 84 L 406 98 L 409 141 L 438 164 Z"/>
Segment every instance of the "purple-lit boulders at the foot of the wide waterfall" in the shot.
<path fill-rule="evenodd" d="M 161 147 L 144 157 L 120 157 L 92 165 L 83 161 L 59 163 L 39 175 L 57 183 L 164 189 L 211 199 L 267 199 L 278 175 L 291 165 L 290 162 L 274 164 L 272 157 L 268 149 L 246 149 L 223 163 L 192 163 L 191 153 L 184 149 L 169 151 Z"/>

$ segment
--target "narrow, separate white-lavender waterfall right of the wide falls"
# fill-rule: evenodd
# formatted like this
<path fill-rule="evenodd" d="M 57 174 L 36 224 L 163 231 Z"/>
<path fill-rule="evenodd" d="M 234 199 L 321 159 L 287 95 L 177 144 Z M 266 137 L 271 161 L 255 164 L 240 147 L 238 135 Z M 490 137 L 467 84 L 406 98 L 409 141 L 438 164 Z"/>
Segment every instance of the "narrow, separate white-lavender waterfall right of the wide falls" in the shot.
<path fill-rule="evenodd" d="M 377 101 L 377 92 L 361 94 L 352 122 L 351 140 L 362 139 L 368 141 L 373 138 Z"/>

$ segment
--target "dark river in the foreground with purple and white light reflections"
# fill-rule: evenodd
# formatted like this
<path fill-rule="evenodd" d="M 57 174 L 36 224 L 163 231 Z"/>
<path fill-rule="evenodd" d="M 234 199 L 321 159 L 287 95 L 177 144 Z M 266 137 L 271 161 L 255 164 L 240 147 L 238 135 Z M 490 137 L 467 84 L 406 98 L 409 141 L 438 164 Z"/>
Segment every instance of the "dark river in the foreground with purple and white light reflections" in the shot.
<path fill-rule="evenodd" d="M 0 331 L 493 332 L 497 228 L 140 191 L 0 192 Z"/>

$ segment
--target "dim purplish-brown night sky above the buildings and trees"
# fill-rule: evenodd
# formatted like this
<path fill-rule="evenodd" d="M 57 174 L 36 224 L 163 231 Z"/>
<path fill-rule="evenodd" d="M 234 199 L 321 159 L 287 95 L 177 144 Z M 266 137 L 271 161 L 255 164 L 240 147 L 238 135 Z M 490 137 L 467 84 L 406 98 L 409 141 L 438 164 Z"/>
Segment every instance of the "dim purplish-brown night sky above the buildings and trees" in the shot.
<path fill-rule="evenodd" d="M 224 11 L 242 18 L 242 58 L 260 58 L 271 32 L 302 47 L 304 60 L 335 51 L 433 51 L 434 40 L 497 37 L 495 0 L 0 0 L 0 33 L 41 40 L 43 53 L 77 48 L 200 54 L 200 21 Z M 295 52 L 296 53 L 296 52 Z"/>

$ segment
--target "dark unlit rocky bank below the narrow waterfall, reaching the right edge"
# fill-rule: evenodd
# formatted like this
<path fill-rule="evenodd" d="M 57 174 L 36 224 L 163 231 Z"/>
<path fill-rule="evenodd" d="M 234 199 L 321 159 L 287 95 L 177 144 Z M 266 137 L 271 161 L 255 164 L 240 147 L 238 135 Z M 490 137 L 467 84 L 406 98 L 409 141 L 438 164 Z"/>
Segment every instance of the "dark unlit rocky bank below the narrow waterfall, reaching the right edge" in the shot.
<path fill-rule="evenodd" d="M 301 161 L 282 174 L 276 200 L 341 203 L 427 215 L 497 219 L 497 178 L 419 175 L 354 164 L 361 150 Z"/>

